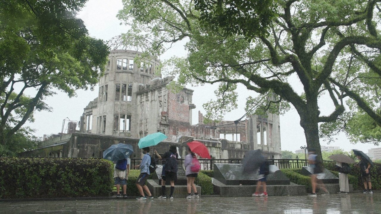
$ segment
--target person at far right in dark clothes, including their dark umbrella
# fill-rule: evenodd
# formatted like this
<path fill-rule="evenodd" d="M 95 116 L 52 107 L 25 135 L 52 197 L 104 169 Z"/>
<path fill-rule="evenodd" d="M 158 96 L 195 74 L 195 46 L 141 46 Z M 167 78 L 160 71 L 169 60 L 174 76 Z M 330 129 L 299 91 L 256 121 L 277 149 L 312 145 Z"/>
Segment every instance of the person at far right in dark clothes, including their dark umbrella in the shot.
<path fill-rule="evenodd" d="M 353 149 L 353 152 L 356 155 L 357 159 L 360 160 L 356 166 L 360 167 L 361 180 L 364 183 L 364 190 L 362 193 L 373 193 L 372 183 L 370 182 L 370 167 L 373 165 L 373 162 L 362 151 Z"/>

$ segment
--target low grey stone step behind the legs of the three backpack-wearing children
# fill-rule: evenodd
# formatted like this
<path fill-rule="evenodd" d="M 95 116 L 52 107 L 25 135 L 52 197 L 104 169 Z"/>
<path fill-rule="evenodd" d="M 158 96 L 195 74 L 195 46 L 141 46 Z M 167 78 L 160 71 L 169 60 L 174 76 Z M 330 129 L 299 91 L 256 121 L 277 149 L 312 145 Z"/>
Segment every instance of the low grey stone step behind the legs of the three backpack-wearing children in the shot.
<path fill-rule="evenodd" d="M 162 185 L 159 185 L 157 182 L 155 182 L 152 179 L 147 180 L 147 187 L 149 188 L 149 191 L 151 194 L 157 198 L 158 196 L 162 195 Z M 197 192 L 201 196 L 201 187 L 196 185 Z M 165 185 L 165 192 L 166 196 L 169 196 L 171 191 L 171 186 L 170 185 Z M 188 190 L 187 190 L 187 185 L 174 185 L 174 192 L 173 192 L 173 197 L 174 198 L 186 198 L 188 195 Z"/>

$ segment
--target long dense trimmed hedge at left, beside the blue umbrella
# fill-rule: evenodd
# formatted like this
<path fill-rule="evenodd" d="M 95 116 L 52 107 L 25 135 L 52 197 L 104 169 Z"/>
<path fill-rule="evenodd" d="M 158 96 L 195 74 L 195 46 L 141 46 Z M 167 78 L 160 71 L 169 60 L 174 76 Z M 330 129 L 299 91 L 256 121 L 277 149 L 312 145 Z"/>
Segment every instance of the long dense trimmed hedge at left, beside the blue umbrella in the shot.
<path fill-rule="evenodd" d="M 0 158 L 0 198 L 109 195 L 112 163 L 96 158 Z"/>

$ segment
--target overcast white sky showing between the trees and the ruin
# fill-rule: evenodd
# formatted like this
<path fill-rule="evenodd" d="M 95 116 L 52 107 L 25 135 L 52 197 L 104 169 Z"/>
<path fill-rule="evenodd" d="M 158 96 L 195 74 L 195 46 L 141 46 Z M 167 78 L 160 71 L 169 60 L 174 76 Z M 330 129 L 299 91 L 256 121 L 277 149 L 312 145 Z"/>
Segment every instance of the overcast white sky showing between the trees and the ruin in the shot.
<path fill-rule="evenodd" d="M 103 40 L 109 40 L 110 38 L 119 35 L 122 32 L 126 32 L 128 26 L 120 25 L 120 21 L 115 17 L 118 10 L 122 9 L 122 0 L 89 0 L 86 7 L 78 15 L 83 19 L 87 29 L 90 32 L 90 36 L 95 38 L 101 38 Z M 160 59 L 168 59 L 171 56 L 185 56 L 185 51 L 182 45 L 179 44 L 163 56 Z M 301 92 L 302 88 L 298 87 L 301 84 L 297 78 L 291 78 L 291 85 L 300 88 L 298 92 Z M 190 87 L 191 88 L 191 87 Z M 205 111 L 202 109 L 202 104 L 213 99 L 214 86 L 200 86 L 194 89 L 193 103 L 196 105 L 196 109 L 193 110 L 193 123 L 198 121 L 198 111 L 202 113 Z M 210 96 L 205 96 L 205 91 L 211 92 Z M 253 96 L 253 92 L 248 92 L 244 87 L 239 87 L 239 109 L 226 115 L 225 120 L 237 120 L 242 117 L 245 112 L 243 110 L 245 105 L 245 98 L 249 95 Z M 98 91 L 77 91 L 77 97 L 69 98 L 66 94 L 59 92 L 53 97 L 46 99 L 46 102 L 53 108 L 53 112 L 36 112 L 35 122 L 27 124 L 34 129 L 37 129 L 36 135 L 43 136 L 43 134 L 59 133 L 62 129 L 62 121 L 68 117 L 70 120 L 79 120 L 83 113 L 83 108 L 98 96 Z M 324 104 L 320 102 L 320 111 L 324 114 L 328 114 L 333 109 L 331 104 Z M 281 143 L 282 150 L 290 150 L 295 152 L 300 146 L 306 145 L 306 139 L 304 137 L 304 131 L 299 125 L 299 115 L 295 109 L 291 109 L 285 115 L 280 116 L 280 130 L 281 130 Z M 345 134 L 337 136 L 338 140 L 331 145 L 339 146 L 345 151 L 351 149 L 359 149 L 368 152 L 368 149 L 377 148 L 371 144 L 351 144 Z M 321 145 L 327 145 L 327 143 L 320 140 Z"/>

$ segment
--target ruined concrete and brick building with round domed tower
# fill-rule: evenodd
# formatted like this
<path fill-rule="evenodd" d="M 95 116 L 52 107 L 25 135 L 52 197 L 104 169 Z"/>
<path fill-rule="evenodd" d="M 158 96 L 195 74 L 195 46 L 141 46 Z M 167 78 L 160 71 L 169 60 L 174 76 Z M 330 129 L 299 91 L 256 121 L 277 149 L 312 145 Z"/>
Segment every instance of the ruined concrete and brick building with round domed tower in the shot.
<path fill-rule="evenodd" d="M 154 57 L 137 63 L 140 54 L 111 51 L 99 79 L 98 97 L 84 108 L 79 131 L 40 142 L 38 149 L 21 156 L 102 157 L 104 149 L 118 142 L 133 144 L 138 151 L 139 138 L 162 132 L 168 139 L 155 147 L 159 153 L 175 143 L 185 156 L 185 143 L 197 139 L 216 159 L 242 158 L 252 149 L 263 150 L 267 158 L 280 158 L 279 115 L 204 124 L 199 112 L 198 124 L 192 125 L 193 90 L 169 89 L 174 77 L 162 78 L 160 61 Z"/>

